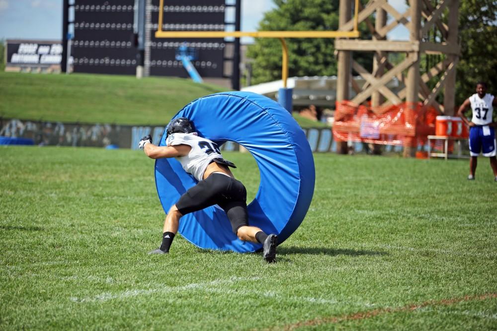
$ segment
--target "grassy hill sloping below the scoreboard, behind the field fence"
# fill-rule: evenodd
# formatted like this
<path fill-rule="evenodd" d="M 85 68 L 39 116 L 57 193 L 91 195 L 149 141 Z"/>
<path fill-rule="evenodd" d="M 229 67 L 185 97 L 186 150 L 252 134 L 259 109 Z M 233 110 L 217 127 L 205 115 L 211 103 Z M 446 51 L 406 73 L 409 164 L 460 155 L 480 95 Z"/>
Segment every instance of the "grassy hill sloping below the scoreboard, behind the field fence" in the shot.
<path fill-rule="evenodd" d="M 24 120 L 164 125 L 184 105 L 226 91 L 189 79 L 0 72 L 0 116 Z M 320 123 L 295 116 L 303 127 Z"/>

